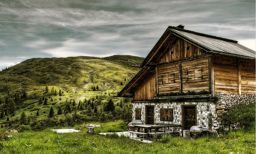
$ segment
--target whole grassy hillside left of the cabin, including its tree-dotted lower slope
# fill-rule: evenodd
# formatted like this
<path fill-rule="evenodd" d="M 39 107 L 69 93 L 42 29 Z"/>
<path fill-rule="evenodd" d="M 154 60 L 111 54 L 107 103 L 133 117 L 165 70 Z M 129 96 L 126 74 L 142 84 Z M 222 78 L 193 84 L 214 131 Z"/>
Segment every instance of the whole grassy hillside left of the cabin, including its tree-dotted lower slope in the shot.
<path fill-rule="evenodd" d="M 51 107 L 54 118 L 57 117 L 55 120 L 59 121 L 67 117 L 64 115 L 67 104 L 71 106 L 68 113 L 79 111 L 83 120 L 93 116 L 93 120 L 100 116 L 113 119 L 117 112 L 130 110 L 131 104 L 127 100 L 113 96 L 139 71 L 131 65 L 140 65 L 143 60 L 136 56 L 32 58 L 12 66 L 0 72 L 0 113 L 4 113 L 0 124 L 3 127 L 9 126 L 10 121 L 18 124 L 23 111 L 31 122 L 42 121 L 48 117 Z M 42 103 L 44 100 L 40 103 L 41 98 L 48 99 L 46 104 Z M 110 99 L 116 106 L 111 114 L 103 110 Z M 126 109 L 120 106 L 121 102 L 125 103 Z M 80 104 L 83 105 L 81 109 Z M 88 106 L 91 109 L 87 109 Z M 62 114 L 57 115 L 59 108 Z M 97 115 L 94 110 L 98 110 Z M 36 115 L 37 111 L 39 115 Z M 10 121 L 6 121 L 7 117 Z"/>

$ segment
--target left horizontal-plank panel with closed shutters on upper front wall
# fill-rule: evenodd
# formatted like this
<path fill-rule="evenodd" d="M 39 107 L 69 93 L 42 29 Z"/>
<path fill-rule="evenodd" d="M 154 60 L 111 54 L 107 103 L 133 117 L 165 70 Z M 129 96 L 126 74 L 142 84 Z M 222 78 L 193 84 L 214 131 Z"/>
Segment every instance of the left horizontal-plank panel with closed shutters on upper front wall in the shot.
<path fill-rule="evenodd" d="M 158 93 L 180 92 L 179 65 L 165 65 L 157 68 Z"/>

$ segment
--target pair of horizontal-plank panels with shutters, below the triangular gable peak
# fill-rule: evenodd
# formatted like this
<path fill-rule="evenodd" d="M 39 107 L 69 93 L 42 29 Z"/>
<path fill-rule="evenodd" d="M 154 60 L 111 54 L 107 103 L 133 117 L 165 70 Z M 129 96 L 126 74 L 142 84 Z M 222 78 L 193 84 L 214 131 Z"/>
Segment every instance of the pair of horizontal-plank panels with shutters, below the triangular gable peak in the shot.
<path fill-rule="evenodd" d="M 159 94 L 209 91 L 208 57 L 181 62 L 181 68 L 175 63 L 160 66 L 157 70 Z M 180 74 L 182 74 L 181 78 Z"/>

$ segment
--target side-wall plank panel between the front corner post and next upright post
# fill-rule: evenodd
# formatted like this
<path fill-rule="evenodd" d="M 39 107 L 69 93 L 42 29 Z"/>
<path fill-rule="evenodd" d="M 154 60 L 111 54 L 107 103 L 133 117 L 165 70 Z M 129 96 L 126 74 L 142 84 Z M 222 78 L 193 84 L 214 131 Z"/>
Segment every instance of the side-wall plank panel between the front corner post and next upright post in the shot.
<path fill-rule="evenodd" d="M 238 71 L 236 58 L 214 56 L 215 92 L 238 94 Z"/>

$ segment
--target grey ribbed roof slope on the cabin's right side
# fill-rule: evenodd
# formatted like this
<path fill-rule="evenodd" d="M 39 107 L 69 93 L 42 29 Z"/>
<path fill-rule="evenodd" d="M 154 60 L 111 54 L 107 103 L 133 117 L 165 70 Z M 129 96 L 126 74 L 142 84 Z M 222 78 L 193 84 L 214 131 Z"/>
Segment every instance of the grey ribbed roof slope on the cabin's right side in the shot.
<path fill-rule="evenodd" d="M 172 26 L 169 26 L 168 30 L 173 34 L 204 48 L 204 50 L 207 51 L 214 51 L 253 58 L 256 57 L 256 53 L 254 50 L 251 50 L 241 44 L 238 44 L 238 41 L 235 40 L 220 38 Z"/>

